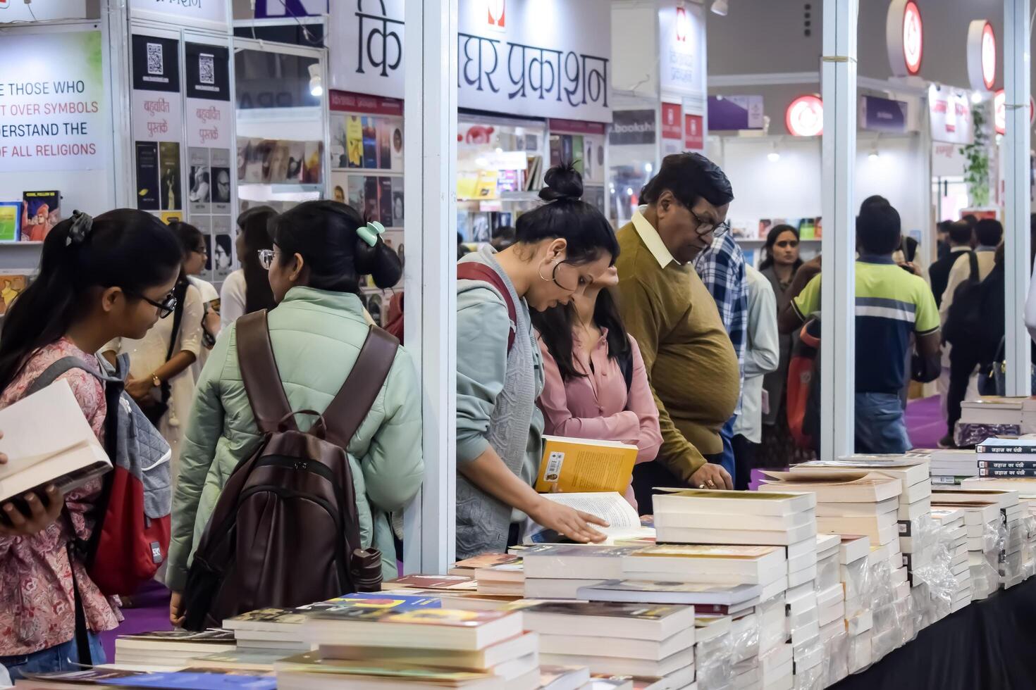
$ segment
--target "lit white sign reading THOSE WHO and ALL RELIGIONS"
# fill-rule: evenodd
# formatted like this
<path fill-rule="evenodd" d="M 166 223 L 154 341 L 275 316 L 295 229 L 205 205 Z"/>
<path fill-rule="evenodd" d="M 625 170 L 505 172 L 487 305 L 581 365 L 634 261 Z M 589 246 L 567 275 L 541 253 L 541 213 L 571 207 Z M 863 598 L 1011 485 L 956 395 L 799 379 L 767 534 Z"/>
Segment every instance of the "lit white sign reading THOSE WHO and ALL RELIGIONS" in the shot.
<path fill-rule="evenodd" d="M 5 35 L 0 63 L 0 173 L 105 168 L 100 32 Z"/>

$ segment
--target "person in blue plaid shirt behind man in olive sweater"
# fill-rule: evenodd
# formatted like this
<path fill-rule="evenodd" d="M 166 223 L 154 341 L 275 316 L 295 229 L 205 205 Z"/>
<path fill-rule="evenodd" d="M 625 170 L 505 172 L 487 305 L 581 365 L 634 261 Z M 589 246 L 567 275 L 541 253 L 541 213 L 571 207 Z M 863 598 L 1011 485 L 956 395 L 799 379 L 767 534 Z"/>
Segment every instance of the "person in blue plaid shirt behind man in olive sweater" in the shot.
<path fill-rule="evenodd" d="M 724 228 L 726 232 L 720 232 Z M 702 251 L 694 262 L 701 282 L 716 300 L 720 319 L 730 336 L 738 366 L 741 370 L 741 388 L 745 387 L 745 347 L 748 342 L 748 294 L 745 287 L 745 254 L 730 235 L 729 226 L 714 231 L 712 246 Z M 723 468 L 733 477 L 733 422 L 741 414 L 741 398 L 733 417 L 723 425 Z"/>

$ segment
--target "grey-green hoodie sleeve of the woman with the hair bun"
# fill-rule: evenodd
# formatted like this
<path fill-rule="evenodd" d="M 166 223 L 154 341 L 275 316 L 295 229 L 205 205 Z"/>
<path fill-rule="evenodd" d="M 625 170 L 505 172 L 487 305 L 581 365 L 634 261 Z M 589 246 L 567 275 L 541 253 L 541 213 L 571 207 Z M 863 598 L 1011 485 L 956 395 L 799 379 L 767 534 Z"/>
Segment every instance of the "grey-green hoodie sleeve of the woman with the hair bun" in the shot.
<path fill-rule="evenodd" d="M 466 280 L 459 281 L 463 287 Z M 485 283 L 481 283 L 485 284 Z M 489 446 L 489 420 L 503 390 L 511 321 L 489 287 L 457 292 L 457 461 L 470 462 Z"/>

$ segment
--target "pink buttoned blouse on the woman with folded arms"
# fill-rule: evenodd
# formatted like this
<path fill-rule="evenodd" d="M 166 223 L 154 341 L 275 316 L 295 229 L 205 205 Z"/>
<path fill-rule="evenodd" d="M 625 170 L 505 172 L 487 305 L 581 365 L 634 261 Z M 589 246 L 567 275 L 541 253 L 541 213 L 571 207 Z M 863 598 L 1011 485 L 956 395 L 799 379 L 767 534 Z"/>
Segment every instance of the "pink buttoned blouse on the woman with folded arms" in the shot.
<path fill-rule="evenodd" d="M 586 376 L 568 382 L 562 381 L 557 362 L 540 338 L 546 379 L 540 394 L 543 432 L 573 439 L 617 441 L 637 447 L 637 462 L 654 460 L 662 447 L 662 431 L 658 425 L 658 407 L 636 340 L 630 338 L 633 381 L 627 395 L 622 367 L 608 357 L 608 330 L 602 329 L 601 338 L 588 358 L 575 334 L 573 338 L 576 340 L 572 348 L 573 363 Z M 626 489 L 626 500 L 636 507 L 632 486 Z"/>

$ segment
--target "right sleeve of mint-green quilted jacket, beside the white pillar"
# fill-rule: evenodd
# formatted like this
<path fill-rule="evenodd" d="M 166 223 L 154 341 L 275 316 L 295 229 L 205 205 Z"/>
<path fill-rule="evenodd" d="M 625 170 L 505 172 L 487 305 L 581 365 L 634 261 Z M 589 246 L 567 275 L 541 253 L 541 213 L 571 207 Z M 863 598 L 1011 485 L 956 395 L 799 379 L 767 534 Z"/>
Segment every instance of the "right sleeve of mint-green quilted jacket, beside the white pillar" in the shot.
<path fill-rule="evenodd" d="M 410 353 L 403 348 L 385 381 L 384 413 L 362 467 L 371 503 L 388 512 L 400 510 L 418 494 L 425 473 L 421 387 Z"/>

